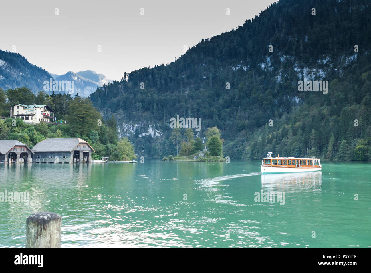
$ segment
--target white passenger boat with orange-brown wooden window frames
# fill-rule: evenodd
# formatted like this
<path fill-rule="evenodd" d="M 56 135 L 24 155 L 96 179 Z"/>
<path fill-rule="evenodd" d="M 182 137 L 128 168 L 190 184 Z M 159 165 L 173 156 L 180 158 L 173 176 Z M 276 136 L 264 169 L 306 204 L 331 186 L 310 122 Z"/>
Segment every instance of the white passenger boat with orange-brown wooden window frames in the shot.
<path fill-rule="evenodd" d="M 262 174 L 322 170 L 321 160 L 318 158 L 272 157 L 272 152 L 269 152 L 267 157 L 262 160 L 260 167 L 262 168 Z"/>

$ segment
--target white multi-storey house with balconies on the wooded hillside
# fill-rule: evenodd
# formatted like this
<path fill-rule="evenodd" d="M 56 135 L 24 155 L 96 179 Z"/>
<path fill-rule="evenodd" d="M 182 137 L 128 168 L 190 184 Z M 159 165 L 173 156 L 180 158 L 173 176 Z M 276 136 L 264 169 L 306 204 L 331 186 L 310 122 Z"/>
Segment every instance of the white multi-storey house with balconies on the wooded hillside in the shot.
<path fill-rule="evenodd" d="M 27 123 L 53 122 L 54 111 L 47 104 L 45 105 L 24 105 L 14 104 L 10 116 L 22 118 Z"/>

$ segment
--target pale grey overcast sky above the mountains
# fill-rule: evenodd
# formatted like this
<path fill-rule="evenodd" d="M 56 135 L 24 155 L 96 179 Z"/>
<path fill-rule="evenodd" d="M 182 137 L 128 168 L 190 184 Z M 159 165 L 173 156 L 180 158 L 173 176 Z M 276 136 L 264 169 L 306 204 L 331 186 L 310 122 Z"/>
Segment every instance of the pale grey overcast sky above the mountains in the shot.
<path fill-rule="evenodd" d="M 273 2 L 1 1 L 0 49 L 12 51 L 15 45 L 17 53 L 50 73 L 90 69 L 119 80 L 125 71 L 173 62 L 184 45 L 236 29 Z"/>

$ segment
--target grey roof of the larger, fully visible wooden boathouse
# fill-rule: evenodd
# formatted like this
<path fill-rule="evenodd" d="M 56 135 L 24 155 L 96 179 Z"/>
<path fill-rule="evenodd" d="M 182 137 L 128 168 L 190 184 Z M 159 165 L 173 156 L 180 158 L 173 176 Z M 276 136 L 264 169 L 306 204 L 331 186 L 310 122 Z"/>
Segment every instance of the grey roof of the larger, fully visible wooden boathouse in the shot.
<path fill-rule="evenodd" d="M 88 142 L 78 137 L 69 139 L 45 139 L 32 148 L 33 152 L 71 152 L 79 143 L 86 143 L 95 152 Z"/>

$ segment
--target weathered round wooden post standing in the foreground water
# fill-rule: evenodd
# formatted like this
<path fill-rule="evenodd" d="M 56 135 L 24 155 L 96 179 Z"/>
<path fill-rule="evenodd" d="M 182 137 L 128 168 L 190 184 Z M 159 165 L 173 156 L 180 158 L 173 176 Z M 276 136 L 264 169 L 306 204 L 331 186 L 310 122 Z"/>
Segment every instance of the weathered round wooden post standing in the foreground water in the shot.
<path fill-rule="evenodd" d="M 36 212 L 26 221 L 26 247 L 60 247 L 62 217 L 54 212 Z"/>

